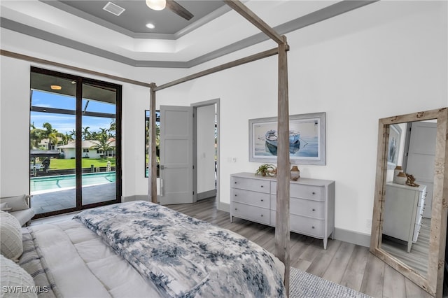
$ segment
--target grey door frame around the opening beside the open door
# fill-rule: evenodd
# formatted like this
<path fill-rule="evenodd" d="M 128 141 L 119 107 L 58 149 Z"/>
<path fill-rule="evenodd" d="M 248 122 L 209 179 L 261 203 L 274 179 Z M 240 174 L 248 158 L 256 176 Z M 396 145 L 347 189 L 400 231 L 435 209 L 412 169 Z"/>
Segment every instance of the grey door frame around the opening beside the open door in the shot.
<path fill-rule="evenodd" d="M 219 153 L 219 147 L 220 147 L 220 106 L 219 106 L 220 99 L 210 99 L 208 101 L 200 101 L 197 103 L 190 104 L 190 106 L 193 107 L 193 115 L 197 115 L 197 108 L 200 108 L 202 106 L 211 106 L 216 104 L 216 202 L 218 203 L 219 208 L 219 189 L 220 189 L 220 153 Z M 193 165 L 195 166 L 195 169 L 193 170 L 193 191 L 195 192 L 195 195 L 193 197 L 193 201 L 197 201 L 197 118 L 193 118 Z"/>

